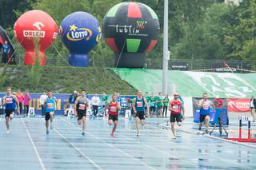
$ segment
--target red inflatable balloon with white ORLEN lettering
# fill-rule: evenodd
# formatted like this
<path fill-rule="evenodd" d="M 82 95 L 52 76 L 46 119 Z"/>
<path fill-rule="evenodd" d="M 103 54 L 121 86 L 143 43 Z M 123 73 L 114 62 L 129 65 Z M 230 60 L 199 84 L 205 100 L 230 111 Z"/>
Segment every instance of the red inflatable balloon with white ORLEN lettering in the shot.
<path fill-rule="evenodd" d="M 45 50 L 58 35 L 58 26 L 49 14 L 42 10 L 30 10 L 22 14 L 14 25 L 14 34 L 26 50 L 25 65 L 45 65 Z M 38 55 L 35 54 L 38 46 Z M 37 58 L 38 57 L 38 58 Z"/>

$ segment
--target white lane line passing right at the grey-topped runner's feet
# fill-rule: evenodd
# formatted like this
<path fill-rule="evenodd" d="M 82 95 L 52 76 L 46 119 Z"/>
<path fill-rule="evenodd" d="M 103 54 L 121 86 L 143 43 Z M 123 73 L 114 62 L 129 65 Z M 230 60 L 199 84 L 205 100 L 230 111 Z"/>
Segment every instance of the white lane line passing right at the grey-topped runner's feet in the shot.
<path fill-rule="evenodd" d="M 61 118 L 63 121 L 66 121 L 65 119 Z M 72 125 L 74 128 L 78 128 L 78 126 L 74 125 L 73 123 L 70 123 L 69 121 L 66 121 L 68 124 Z M 80 129 L 80 128 L 78 128 Z M 90 134 L 90 132 L 86 132 L 87 134 L 89 134 L 90 136 L 93 136 L 95 139 L 102 141 L 103 144 L 106 144 L 108 146 L 110 146 L 111 148 L 114 148 L 116 150 L 118 150 L 119 152 L 122 152 L 123 154 L 125 154 L 126 156 L 129 156 L 130 158 L 132 158 L 133 160 L 137 160 L 138 162 L 140 162 L 142 165 L 146 166 L 147 168 L 150 169 L 154 169 L 157 170 L 156 168 L 151 167 L 150 165 L 146 164 L 145 162 L 142 162 L 141 160 L 138 160 L 138 158 L 135 158 L 134 156 L 131 156 L 129 153 L 124 152 L 122 149 L 120 148 L 116 148 L 113 144 L 109 144 L 106 141 L 100 139 L 98 136 L 94 136 L 93 134 Z"/>

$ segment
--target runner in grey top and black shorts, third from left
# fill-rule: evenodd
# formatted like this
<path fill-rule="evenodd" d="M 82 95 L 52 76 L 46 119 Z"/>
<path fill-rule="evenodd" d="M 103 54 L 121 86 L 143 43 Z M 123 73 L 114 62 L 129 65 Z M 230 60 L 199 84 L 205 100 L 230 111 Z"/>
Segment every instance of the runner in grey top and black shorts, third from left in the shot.
<path fill-rule="evenodd" d="M 86 98 L 86 90 L 74 102 L 74 115 L 78 116 L 78 125 L 82 124 L 82 136 L 86 136 L 86 111 L 89 109 L 89 100 Z"/>

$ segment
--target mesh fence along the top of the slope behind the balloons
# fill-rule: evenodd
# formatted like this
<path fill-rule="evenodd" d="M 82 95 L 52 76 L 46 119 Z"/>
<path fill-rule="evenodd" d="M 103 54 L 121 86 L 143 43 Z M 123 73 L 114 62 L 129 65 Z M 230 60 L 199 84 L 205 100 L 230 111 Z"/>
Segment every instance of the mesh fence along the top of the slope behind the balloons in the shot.
<path fill-rule="evenodd" d="M 17 53 L 16 63 L 23 65 L 23 54 Z M 114 57 L 90 57 L 90 66 L 114 67 Z M 67 57 L 50 54 L 46 57 L 46 65 L 69 66 Z M 205 59 L 170 59 L 170 70 L 202 70 L 202 71 L 230 71 L 244 73 L 245 70 L 256 70 L 256 62 L 242 60 L 205 60 Z M 162 58 L 146 58 L 145 69 L 162 69 Z M 229 68 L 229 69 L 222 69 Z"/>

